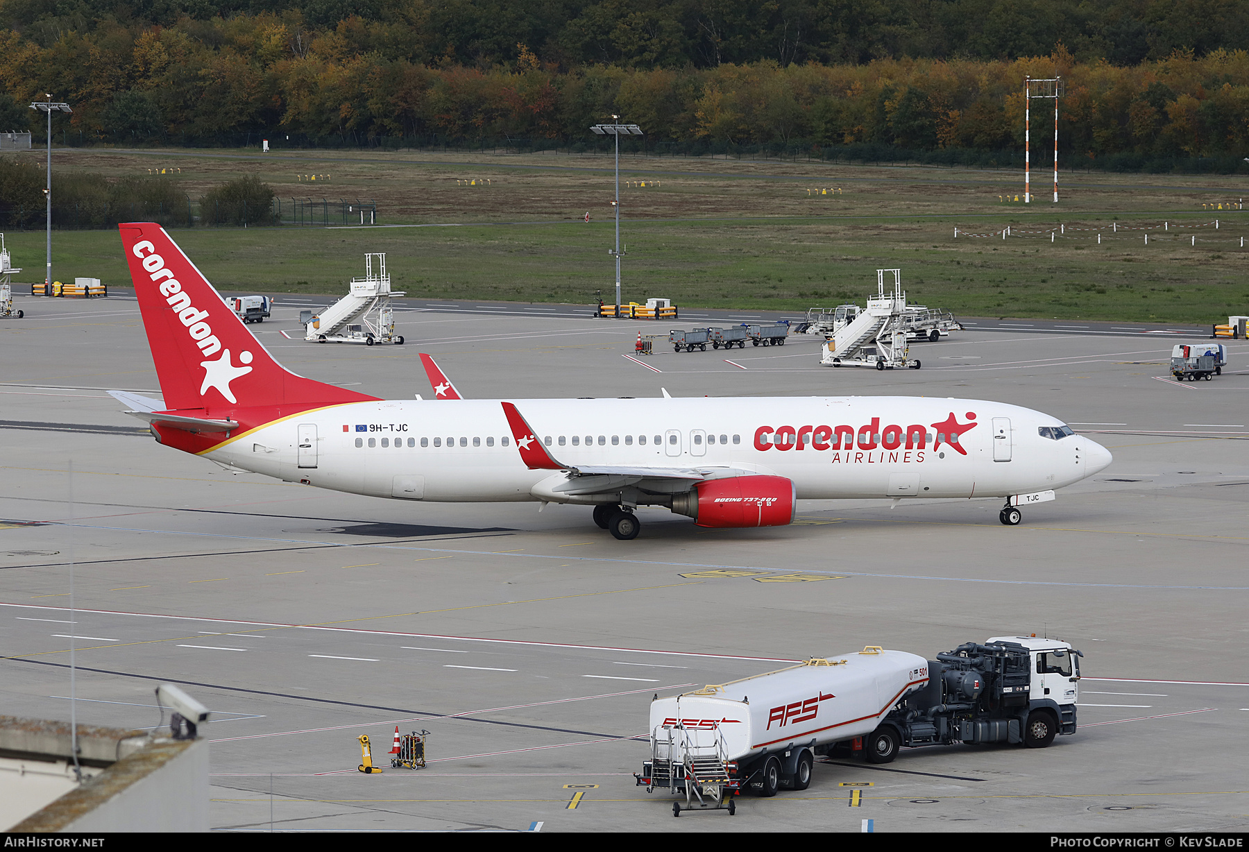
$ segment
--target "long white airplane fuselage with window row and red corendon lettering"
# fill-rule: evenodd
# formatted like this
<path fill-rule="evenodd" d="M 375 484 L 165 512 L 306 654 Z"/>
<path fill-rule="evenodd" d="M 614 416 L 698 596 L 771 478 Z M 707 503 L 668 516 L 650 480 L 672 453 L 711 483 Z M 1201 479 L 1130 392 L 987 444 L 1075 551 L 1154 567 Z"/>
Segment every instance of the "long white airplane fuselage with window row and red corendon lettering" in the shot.
<path fill-rule="evenodd" d="M 516 406 L 561 463 L 729 467 L 787 477 L 801 500 L 1004 497 L 1070 485 L 1110 461 L 1084 436 L 1040 433 L 1038 427 L 1062 425 L 1049 415 L 980 400 L 698 397 L 518 400 Z M 954 430 L 962 430 L 957 438 Z M 204 455 L 317 487 L 430 501 L 550 500 L 535 487 L 555 473 L 526 467 L 500 402 L 478 400 L 337 405 L 234 436 Z"/>

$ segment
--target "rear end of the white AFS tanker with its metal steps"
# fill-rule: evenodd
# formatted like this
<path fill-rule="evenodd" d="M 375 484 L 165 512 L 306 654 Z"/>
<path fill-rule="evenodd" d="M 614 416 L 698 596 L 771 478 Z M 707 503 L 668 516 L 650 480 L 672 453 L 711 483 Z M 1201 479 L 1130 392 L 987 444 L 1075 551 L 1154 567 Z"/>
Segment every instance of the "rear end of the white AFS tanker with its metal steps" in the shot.
<path fill-rule="evenodd" d="M 682 811 L 737 812 L 727 763 L 728 748 L 718 725 L 696 730 L 677 722 L 651 735 L 649 787 L 666 787 L 672 796 L 686 797 L 684 806 L 672 802 L 674 817 Z"/>

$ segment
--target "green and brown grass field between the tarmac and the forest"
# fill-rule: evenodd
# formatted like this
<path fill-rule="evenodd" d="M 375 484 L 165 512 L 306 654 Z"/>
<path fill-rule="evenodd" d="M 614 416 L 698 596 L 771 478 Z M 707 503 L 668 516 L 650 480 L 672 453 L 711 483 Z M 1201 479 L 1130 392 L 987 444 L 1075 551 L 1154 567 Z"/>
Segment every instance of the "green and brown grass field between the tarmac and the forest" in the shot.
<path fill-rule="evenodd" d="M 383 224 L 423 225 L 175 231 L 224 290 L 341 294 L 363 271 L 363 252 L 385 251 L 393 286 L 413 296 L 588 304 L 597 291 L 608 301 L 615 291 L 610 160 L 175 154 L 72 150 L 57 152 L 54 167 L 122 175 L 172 164 L 192 196 L 254 172 L 280 197 L 375 199 Z M 296 177 L 307 174 L 330 179 L 313 192 Z M 1054 205 L 1045 200 L 1049 175 L 1034 177 L 1043 194 L 1025 207 L 1002 200 L 1022 190 L 1014 172 L 624 160 L 622 182 L 633 184 L 621 190 L 624 296 L 804 310 L 862 301 L 874 291 L 877 269 L 901 267 L 911 301 L 964 316 L 1204 324 L 1249 307 L 1249 249 L 1240 247 L 1249 236 L 1247 214 L 1202 209 L 1238 202 L 1242 190 L 1230 185 L 1237 179 L 1064 172 L 1063 200 Z M 488 182 L 465 186 L 466 179 Z M 641 180 L 648 186 L 637 186 Z M 813 189 L 834 194 L 811 195 Z M 1052 242 L 1048 231 L 1059 224 L 1067 232 Z M 1005 225 L 1012 236 L 1002 240 Z M 1140 227 L 1152 230 L 1133 230 Z M 129 284 L 116 232 L 52 237 L 59 280 Z M 14 262 L 37 275 L 42 232 L 10 232 L 6 240 Z"/>

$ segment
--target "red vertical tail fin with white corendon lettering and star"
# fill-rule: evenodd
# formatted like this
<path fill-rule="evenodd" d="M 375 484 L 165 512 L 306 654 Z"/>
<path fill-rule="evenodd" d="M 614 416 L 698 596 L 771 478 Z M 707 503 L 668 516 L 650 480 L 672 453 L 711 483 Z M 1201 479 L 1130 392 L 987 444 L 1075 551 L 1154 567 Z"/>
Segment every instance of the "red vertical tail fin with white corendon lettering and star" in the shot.
<path fill-rule="evenodd" d="M 126 222 L 119 230 L 169 410 L 376 399 L 277 364 L 160 225 Z"/>

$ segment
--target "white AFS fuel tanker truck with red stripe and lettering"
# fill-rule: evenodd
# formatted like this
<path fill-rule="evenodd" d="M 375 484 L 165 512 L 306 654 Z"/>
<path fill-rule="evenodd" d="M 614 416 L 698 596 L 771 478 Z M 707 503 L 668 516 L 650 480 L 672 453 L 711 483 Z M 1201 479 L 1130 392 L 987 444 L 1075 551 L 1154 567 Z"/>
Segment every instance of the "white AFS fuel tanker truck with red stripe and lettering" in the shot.
<path fill-rule="evenodd" d="M 736 810 L 743 791 L 806 790 L 816 757 L 888 763 L 903 746 L 1018 743 L 1075 733 L 1083 655 L 997 636 L 936 660 L 868 646 L 651 702 L 651 760 L 634 775 L 684 808 Z M 682 803 L 672 802 L 673 816 Z"/>

